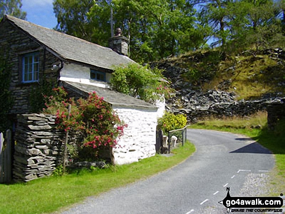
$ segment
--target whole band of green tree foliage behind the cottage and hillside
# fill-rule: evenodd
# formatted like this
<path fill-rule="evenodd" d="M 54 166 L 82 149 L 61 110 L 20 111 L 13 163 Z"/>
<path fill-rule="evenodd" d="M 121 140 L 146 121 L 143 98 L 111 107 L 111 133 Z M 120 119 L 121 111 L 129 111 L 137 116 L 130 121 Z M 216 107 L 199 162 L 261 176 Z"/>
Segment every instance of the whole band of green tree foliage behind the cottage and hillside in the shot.
<path fill-rule="evenodd" d="M 130 40 L 138 63 L 206 47 L 266 48 L 284 41 L 284 0 L 54 0 L 58 30 L 108 46 L 114 29 Z"/>

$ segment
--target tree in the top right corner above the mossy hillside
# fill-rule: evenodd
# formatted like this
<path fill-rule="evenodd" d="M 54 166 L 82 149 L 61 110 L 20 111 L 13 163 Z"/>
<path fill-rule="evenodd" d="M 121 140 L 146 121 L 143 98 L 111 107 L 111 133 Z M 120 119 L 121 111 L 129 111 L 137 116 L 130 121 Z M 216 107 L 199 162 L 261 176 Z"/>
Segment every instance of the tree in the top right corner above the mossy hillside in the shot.
<path fill-rule="evenodd" d="M 273 0 L 241 0 L 232 4 L 231 35 L 236 46 L 255 50 L 268 48 L 281 34 L 278 14 L 280 9 Z"/>

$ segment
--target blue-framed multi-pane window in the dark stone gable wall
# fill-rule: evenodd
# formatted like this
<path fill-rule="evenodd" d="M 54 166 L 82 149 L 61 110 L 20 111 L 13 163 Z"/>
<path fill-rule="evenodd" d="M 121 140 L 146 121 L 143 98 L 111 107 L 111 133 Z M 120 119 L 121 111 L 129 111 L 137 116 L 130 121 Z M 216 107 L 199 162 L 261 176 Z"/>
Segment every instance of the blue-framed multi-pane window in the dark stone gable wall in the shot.
<path fill-rule="evenodd" d="M 29 53 L 22 57 L 22 81 L 37 82 L 39 73 L 39 53 Z"/>

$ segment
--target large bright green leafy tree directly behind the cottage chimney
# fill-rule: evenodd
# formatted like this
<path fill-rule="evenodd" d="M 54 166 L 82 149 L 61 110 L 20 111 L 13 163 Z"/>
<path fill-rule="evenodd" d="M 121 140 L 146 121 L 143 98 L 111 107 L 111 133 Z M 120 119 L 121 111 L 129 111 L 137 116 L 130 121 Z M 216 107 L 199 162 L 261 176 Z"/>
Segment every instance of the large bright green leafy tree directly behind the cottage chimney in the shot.
<path fill-rule="evenodd" d="M 115 28 L 130 40 L 130 57 L 148 62 L 177 55 L 204 44 L 195 10 L 185 0 L 55 0 L 58 29 L 102 46 Z M 191 38 L 197 38 L 193 40 Z"/>

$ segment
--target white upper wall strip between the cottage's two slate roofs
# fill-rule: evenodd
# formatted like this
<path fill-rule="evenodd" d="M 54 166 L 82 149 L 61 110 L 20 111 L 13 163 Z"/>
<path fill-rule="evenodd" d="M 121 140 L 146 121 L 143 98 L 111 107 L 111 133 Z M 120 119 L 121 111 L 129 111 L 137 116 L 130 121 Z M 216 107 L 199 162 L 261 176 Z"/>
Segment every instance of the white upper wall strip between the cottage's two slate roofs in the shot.
<path fill-rule="evenodd" d="M 90 79 L 90 67 L 81 66 L 73 63 L 64 64 L 60 71 L 60 80 L 69 82 L 81 82 L 84 84 L 95 85 L 98 87 L 109 87 L 112 74 L 106 73 L 106 82 L 95 81 Z"/>

